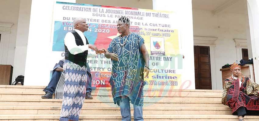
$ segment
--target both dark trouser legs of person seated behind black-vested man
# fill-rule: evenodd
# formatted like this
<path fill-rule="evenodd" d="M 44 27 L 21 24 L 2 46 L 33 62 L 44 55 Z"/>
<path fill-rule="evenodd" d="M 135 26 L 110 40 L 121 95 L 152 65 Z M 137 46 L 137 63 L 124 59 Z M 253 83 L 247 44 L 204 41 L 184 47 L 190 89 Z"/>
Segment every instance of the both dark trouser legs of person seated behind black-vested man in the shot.
<path fill-rule="evenodd" d="M 53 94 L 55 92 L 57 83 L 59 81 L 61 72 L 53 71 L 50 82 L 48 83 L 47 90 L 45 92 L 49 92 Z M 87 83 L 86 83 L 86 92 L 92 92 L 92 79 L 90 79 L 90 74 L 87 73 Z"/>

